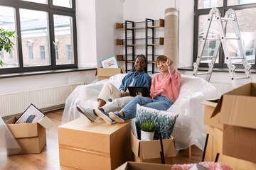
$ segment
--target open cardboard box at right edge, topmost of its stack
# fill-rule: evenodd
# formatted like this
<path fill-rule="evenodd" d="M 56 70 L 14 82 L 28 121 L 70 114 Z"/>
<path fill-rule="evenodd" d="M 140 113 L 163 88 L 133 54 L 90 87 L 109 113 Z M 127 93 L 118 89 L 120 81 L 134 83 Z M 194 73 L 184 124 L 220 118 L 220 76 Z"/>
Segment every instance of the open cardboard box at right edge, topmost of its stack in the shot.
<path fill-rule="evenodd" d="M 221 96 L 213 112 L 224 124 L 223 154 L 256 162 L 256 83 Z"/>

